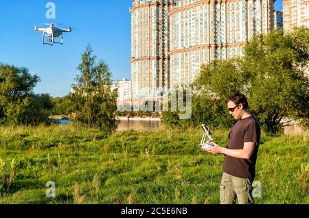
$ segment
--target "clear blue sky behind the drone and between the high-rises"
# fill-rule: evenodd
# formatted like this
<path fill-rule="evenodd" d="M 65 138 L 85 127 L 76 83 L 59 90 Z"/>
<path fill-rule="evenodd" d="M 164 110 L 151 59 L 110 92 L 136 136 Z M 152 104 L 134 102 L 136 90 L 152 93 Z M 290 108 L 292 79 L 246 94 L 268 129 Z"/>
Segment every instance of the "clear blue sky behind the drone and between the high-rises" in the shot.
<path fill-rule="evenodd" d="M 56 5 L 56 19 L 47 19 L 46 4 Z M 131 0 L 1 0 L 0 62 L 27 67 L 41 83 L 34 91 L 65 96 L 79 73 L 76 67 L 87 44 L 106 61 L 114 80 L 130 78 Z M 282 10 L 282 0 L 275 8 Z M 64 45 L 42 45 L 41 23 L 63 23 L 76 28 L 64 35 Z"/>

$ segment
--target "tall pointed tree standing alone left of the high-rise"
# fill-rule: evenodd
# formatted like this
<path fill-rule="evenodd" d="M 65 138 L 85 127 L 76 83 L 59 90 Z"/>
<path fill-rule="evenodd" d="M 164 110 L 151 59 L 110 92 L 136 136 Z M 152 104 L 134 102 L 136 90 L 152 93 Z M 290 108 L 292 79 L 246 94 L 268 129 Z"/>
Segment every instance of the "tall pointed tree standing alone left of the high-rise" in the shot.
<path fill-rule="evenodd" d="M 87 46 L 78 66 L 80 75 L 73 86 L 72 102 L 76 109 L 76 120 L 105 132 L 117 128 L 117 90 L 111 91 L 111 72 L 104 61 L 96 62 L 92 48 Z"/>

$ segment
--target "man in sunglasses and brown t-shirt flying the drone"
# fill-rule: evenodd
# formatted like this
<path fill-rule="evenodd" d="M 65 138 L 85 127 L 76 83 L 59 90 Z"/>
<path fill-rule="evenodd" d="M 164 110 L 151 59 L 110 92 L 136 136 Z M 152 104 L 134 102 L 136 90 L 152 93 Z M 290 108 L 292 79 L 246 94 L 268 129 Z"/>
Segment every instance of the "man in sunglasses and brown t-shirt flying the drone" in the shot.
<path fill-rule="evenodd" d="M 207 152 L 225 155 L 220 185 L 220 204 L 253 204 L 252 184 L 260 144 L 260 125 L 249 113 L 246 96 L 233 94 L 227 100 L 229 114 L 239 120 L 229 133 L 227 148 L 211 142 Z"/>

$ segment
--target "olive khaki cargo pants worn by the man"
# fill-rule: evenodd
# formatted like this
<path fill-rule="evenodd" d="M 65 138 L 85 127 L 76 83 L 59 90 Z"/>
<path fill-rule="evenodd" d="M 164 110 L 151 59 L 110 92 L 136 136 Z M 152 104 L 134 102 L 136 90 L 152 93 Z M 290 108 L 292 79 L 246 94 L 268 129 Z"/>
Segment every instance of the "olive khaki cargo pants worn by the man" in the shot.
<path fill-rule="evenodd" d="M 253 180 L 223 173 L 220 185 L 220 204 L 253 204 Z"/>

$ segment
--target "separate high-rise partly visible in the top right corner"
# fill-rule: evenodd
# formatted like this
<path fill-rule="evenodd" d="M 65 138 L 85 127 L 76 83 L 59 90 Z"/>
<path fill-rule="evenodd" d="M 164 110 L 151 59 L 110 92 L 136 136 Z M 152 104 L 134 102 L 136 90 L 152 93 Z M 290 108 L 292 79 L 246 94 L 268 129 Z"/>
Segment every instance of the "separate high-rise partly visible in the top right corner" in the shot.
<path fill-rule="evenodd" d="M 284 0 L 284 30 L 292 31 L 295 27 L 309 27 L 309 0 Z"/>

